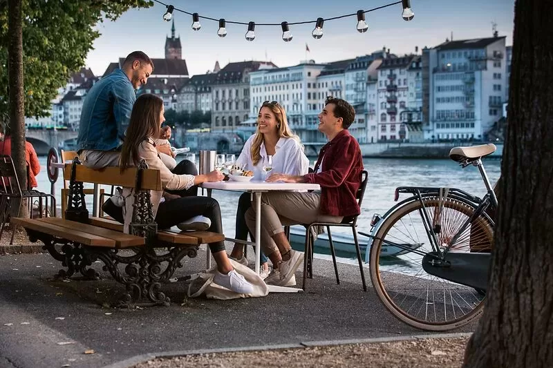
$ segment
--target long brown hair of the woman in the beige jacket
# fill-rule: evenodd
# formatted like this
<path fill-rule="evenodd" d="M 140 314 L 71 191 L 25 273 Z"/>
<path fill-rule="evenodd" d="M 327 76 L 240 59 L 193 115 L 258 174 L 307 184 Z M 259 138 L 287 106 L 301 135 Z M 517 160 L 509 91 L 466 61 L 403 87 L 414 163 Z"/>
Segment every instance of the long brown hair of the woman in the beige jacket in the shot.
<path fill-rule="evenodd" d="M 136 166 L 140 162 L 138 146 L 144 139 L 159 137 L 162 107 L 163 100 L 154 95 L 145 94 L 136 99 L 121 150 L 121 169 Z"/>

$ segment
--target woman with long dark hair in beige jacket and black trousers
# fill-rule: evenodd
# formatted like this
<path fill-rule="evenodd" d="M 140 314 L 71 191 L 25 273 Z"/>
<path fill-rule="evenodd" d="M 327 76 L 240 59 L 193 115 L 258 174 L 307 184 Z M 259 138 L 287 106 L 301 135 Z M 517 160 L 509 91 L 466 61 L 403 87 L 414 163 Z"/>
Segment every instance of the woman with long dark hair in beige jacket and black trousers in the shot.
<path fill-rule="evenodd" d="M 136 166 L 141 159 L 144 159 L 148 164 L 148 168 L 160 171 L 161 184 L 164 190 L 186 190 L 191 186 L 204 182 L 221 181 L 223 174 L 219 171 L 212 171 L 206 175 L 177 175 L 171 173 L 169 168 L 163 164 L 156 150 L 153 137 L 159 137 L 160 135 L 161 124 L 165 122 L 164 113 L 163 101 L 159 97 L 146 94 L 136 99 L 122 146 L 120 167 L 123 169 Z M 203 215 L 211 220 L 209 231 L 214 233 L 223 232 L 221 209 L 218 202 L 213 198 L 189 196 L 162 202 L 162 194 L 162 191 L 151 191 L 153 214 L 156 217 L 158 229 L 168 229 L 189 220 L 191 217 Z M 124 229 L 128 232 L 133 211 L 133 189 L 124 188 L 123 197 L 125 202 L 123 207 Z M 236 293 L 251 293 L 253 291 L 252 285 L 242 275 L 234 271 L 234 267 L 232 267 L 225 251 L 225 243 L 209 244 L 209 249 L 211 249 L 217 264 L 214 282 L 236 291 Z"/>

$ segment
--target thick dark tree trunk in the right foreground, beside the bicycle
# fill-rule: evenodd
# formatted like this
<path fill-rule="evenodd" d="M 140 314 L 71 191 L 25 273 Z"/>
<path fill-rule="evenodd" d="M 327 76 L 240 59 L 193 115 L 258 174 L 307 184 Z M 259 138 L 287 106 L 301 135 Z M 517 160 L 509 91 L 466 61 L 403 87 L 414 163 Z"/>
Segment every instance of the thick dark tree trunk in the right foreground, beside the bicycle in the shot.
<path fill-rule="evenodd" d="M 487 304 L 464 367 L 553 367 L 553 0 L 517 0 Z"/>

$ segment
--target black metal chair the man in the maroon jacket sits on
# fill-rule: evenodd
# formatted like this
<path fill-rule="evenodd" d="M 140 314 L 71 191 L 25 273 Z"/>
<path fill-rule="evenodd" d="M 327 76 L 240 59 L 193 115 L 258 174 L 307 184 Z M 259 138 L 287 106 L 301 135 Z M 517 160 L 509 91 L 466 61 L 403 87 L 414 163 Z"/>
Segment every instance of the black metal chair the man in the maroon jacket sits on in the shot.
<path fill-rule="evenodd" d="M 363 202 L 363 197 L 365 195 L 365 189 L 368 183 L 368 172 L 366 170 L 361 173 L 361 186 L 355 194 L 359 207 Z M 306 278 L 313 278 L 313 243 L 315 242 L 312 235 L 312 228 L 314 226 L 326 226 L 326 231 L 328 232 L 328 243 L 330 244 L 330 251 L 332 253 L 332 262 L 334 262 L 334 271 L 336 273 L 336 283 L 340 284 L 340 279 L 338 276 L 338 267 L 336 264 L 336 253 L 334 251 L 334 244 L 332 244 L 332 233 L 330 233 L 330 226 L 339 226 L 339 227 L 350 227 L 353 232 L 353 240 L 355 242 L 355 251 L 357 251 L 357 260 L 359 261 L 359 271 L 361 272 L 361 280 L 363 282 L 363 290 L 367 291 L 367 286 L 365 282 L 365 273 L 363 271 L 363 260 L 361 258 L 361 250 L 359 249 L 359 240 L 357 238 L 357 216 L 348 216 L 344 217 L 341 223 L 335 224 L 331 222 L 312 222 L 311 224 L 306 224 L 306 248 L 305 248 L 305 257 L 303 258 L 303 285 L 302 289 L 306 289 Z"/>

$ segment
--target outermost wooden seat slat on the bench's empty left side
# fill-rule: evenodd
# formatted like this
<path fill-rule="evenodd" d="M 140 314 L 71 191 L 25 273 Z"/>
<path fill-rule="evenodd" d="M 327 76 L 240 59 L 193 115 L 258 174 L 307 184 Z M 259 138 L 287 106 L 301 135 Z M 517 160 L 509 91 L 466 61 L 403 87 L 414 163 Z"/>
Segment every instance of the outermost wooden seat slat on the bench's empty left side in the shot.
<path fill-rule="evenodd" d="M 57 236 L 58 238 L 64 238 L 73 242 L 79 242 L 81 244 L 89 246 L 106 246 L 108 248 L 115 248 L 115 240 L 104 238 L 102 236 L 85 233 L 76 229 L 66 229 L 62 226 L 55 224 L 49 224 L 48 222 L 39 221 L 36 219 L 19 218 L 14 217 L 11 219 L 12 224 L 23 226 L 26 229 L 35 231 L 41 231 L 50 235 Z"/>

